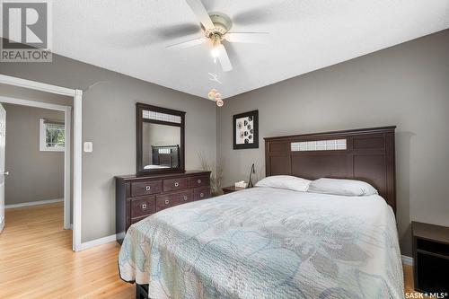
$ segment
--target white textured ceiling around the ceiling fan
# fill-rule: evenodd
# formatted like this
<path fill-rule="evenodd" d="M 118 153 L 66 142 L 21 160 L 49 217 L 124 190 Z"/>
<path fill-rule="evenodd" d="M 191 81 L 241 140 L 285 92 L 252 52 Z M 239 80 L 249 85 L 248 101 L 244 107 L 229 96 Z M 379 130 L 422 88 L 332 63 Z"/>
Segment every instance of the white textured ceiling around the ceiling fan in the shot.
<path fill-rule="evenodd" d="M 57 0 L 54 52 L 200 97 L 218 87 L 227 98 L 449 28 L 448 0 L 203 3 L 229 15 L 232 31 L 269 31 L 269 43 L 225 42 L 233 71 L 224 73 L 207 44 L 165 48 L 202 36 L 183 0 Z"/>

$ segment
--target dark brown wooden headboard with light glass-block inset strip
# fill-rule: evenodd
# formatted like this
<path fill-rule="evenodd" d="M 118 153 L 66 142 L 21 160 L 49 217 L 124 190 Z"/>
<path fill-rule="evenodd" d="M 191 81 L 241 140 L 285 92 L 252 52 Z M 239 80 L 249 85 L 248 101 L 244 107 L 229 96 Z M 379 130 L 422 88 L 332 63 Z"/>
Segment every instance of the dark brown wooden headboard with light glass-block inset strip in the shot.
<path fill-rule="evenodd" d="M 396 213 L 395 128 L 361 128 L 264 138 L 266 175 L 289 174 L 308 180 L 323 177 L 364 180 L 379 191 Z M 346 140 L 346 149 L 333 150 L 333 145 L 329 145 L 331 150 L 321 150 L 326 146 L 322 145 L 323 140 L 340 140 L 341 144 L 342 139 Z M 306 150 L 304 142 L 312 141 L 321 142 L 318 147 L 311 143 L 312 150 Z M 336 146 L 341 148 L 343 145 Z"/>

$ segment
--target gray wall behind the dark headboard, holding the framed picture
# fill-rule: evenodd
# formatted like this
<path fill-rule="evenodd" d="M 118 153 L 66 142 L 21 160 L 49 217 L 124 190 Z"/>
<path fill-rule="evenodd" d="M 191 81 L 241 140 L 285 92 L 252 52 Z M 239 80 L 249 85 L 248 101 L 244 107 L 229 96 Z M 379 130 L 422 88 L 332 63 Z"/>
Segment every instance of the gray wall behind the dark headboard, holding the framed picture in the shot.
<path fill-rule="evenodd" d="M 233 114 L 259 110 L 260 148 L 233 150 Z M 449 225 L 449 31 L 247 92 L 217 114 L 226 185 L 264 170 L 265 136 L 397 125 L 397 219 L 410 255 L 410 220 Z"/>

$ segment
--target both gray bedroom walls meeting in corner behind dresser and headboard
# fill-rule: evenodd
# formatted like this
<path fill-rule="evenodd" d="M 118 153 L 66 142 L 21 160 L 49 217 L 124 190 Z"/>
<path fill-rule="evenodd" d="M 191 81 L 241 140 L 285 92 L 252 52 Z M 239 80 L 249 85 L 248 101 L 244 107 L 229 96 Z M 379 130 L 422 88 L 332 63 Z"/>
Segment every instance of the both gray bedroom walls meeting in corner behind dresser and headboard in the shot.
<path fill-rule="evenodd" d="M 83 155 L 84 242 L 115 233 L 113 176 L 136 171 L 136 101 L 187 111 L 186 168 L 200 167 L 199 151 L 211 160 L 222 155 L 224 184 L 247 179 L 252 162 L 263 172 L 264 136 L 397 125 L 403 253 L 410 254 L 410 220 L 449 225 L 449 31 L 244 93 L 217 110 L 211 101 L 66 57 L 0 63 L 0 73 L 85 90 L 83 139 L 93 153 Z M 232 116 L 254 109 L 260 148 L 233 151 Z"/>

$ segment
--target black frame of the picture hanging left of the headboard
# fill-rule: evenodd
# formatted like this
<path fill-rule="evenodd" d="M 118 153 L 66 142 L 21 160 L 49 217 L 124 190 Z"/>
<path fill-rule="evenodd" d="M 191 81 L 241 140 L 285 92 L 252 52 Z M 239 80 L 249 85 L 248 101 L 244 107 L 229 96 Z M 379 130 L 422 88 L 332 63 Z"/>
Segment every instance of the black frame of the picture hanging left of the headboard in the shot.
<path fill-rule="evenodd" d="M 240 143 L 242 140 L 242 136 L 237 136 L 237 122 L 239 119 L 245 119 L 249 118 L 252 122 L 251 128 L 247 128 L 243 132 L 243 134 L 248 133 L 248 137 L 251 138 L 249 140 L 248 138 L 245 138 L 245 141 L 248 140 L 248 143 Z M 243 124 L 246 126 L 245 124 Z M 242 124 L 240 124 L 242 126 Z M 239 138 L 239 143 L 237 143 L 237 138 Z M 247 148 L 259 148 L 259 110 L 252 110 L 240 114 L 233 115 L 233 149 L 247 149 Z"/>

